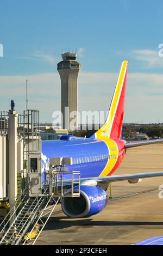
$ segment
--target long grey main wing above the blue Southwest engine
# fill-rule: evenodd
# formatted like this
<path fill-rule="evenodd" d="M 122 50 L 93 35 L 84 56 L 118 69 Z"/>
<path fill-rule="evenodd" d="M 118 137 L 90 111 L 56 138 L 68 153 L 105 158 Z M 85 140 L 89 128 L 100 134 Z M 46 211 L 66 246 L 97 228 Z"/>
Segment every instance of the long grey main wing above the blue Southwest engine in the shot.
<path fill-rule="evenodd" d="M 159 176 L 163 176 L 163 171 L 150 172 L 150 173 L 110 175 L 110 176 L 103 176 L 103 177 L 99 176 L 99 177 L 83 178 L 81 179 L 81 185 L 91 184 L 91 181 L 93 183 L 93 182 L 114 182 L 114 181 L 128 180 L 130 183 L 137 183 L 139 179 L 159 177 Z"/>

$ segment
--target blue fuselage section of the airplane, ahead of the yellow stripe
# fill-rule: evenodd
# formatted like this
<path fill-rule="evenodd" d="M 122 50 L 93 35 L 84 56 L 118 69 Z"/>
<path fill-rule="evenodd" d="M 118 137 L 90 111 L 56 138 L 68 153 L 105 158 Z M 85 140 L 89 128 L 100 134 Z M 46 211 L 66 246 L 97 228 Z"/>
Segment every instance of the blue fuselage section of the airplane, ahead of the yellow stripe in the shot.
<path fill-rule="evenodd" d="M 68 170 L 80 171 L 81 178 L 99 176 L 108 162 L 109 149 L 101 139 L 42 141 L 42 180 L 50 157 L 72 157 Z"/>

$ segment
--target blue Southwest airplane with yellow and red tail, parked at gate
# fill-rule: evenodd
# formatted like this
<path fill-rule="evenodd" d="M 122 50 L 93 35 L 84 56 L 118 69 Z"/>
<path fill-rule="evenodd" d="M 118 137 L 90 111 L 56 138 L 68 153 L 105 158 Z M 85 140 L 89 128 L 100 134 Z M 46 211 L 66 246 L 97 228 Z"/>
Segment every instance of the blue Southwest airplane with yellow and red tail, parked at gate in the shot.
<path fill-rule="evenodd" d="M 72 165 L 65 167 L 80 171 L 80 197 L 61 200 L 62 210 L 69 217 L 88 217 L 102 211 L 107 203 L 105 191 L 110 182 L 128 180 L 137 183 L 142 178 L 163 176 L 163 172 L 111 175 L 120 166 L 128 148 L 163 142 L 163 139 L 157 139 L 126 143 L 121 139 L 127 69 L 128 62 L 124 60 L 108 118 L 93 136 L 76 138 L 66 135 L 59 140 L 42 142 L 42 172 L 48 169 L 49 157 L 72 157 Z"/>

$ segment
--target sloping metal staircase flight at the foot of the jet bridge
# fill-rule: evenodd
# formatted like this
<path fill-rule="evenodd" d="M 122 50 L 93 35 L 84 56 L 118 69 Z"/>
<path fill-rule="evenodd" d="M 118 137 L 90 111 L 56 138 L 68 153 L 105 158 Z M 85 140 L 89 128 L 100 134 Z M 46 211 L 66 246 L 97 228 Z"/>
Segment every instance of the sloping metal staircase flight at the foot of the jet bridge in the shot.
<path fill-rule="evenodd" d="M 16 204 L 12 207 L 0 225 L 0 234 L 2 235 L 0 245 L 18 245 L 27 231 L 33 227 L 46 202 L 45 195 L 40 196 L 39 194 L 37 197 L 28 198 L 24 195 L 20 204 L 17 207 Z"/>

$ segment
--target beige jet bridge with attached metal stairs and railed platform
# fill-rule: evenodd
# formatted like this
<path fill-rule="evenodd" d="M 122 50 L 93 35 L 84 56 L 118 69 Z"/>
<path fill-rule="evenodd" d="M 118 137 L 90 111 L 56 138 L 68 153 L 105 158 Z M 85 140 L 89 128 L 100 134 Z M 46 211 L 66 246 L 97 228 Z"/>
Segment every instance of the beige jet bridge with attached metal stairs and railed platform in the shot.
<path fill-rule="evenodd" d="M 0 112 L 0 245 L 26 244 L 40 225 L 34 244 L 60 198 L 80 196 L 80 172 L 65 168 L 71 158 L 50 159 L 42 185 L 39 132 L 39 111 L 17 114 L 11 101 Z"/>

